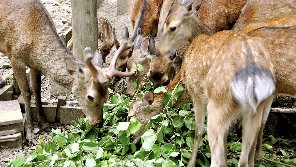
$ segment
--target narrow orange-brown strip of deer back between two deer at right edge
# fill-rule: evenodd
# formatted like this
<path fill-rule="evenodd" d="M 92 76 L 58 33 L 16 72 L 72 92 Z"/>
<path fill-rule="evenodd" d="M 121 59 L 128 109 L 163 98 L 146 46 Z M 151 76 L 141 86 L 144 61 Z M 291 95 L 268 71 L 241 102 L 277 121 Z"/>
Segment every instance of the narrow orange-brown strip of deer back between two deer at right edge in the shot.
<path fill-rule="evenodd" d="M 281 15 L 279 17 L 272 18 L 262 23 L 251 23 L 247 25 L 241 33 L 245 34 L 249 31 L 263 26 L 296 26 L 296 12 Z"/>

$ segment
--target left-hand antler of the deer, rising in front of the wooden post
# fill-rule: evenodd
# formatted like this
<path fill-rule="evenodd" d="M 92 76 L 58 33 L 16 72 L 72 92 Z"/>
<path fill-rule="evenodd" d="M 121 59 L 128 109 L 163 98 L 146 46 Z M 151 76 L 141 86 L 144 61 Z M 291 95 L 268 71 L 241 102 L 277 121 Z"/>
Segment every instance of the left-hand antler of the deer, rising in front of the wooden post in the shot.
<path fill-rule="evenodd" d="M 102 76 L 96 70 L 95 66 L 91 62 L 91 59 L 93 59 L 93 58 L 94 58 L 94 55 L 91 54 L 91 48 L 90 47 L 86 47 L 84 49 L 84 60 L 85 60 L 86 65 L 91 70 L 93 81 L 96 82 L 96 83 L 100 83 L 100 84 L 106 84 L 107 83 L 107 79 L 105 79 L 104 76 Z"/>

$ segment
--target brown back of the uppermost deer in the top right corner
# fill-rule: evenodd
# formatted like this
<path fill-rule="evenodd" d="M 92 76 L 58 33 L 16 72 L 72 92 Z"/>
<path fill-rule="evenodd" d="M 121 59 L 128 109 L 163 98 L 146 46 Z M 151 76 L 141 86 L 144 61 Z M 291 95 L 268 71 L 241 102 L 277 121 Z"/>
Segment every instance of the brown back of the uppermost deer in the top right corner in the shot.
<path fill-rule="evenodd" d="M 251 23 L 261 23 L 295 11 L 295 0 L 249 0 L 232 29 L 241 32 Z"/>

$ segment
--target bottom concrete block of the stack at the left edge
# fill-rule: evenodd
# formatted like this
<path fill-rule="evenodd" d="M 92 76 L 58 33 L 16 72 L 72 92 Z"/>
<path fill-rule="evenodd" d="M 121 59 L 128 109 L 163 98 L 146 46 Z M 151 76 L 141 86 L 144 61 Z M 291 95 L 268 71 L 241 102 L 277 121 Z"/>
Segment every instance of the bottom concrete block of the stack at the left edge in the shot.
<path fill-rule="evenodd" d="M 22 133 L 0 136 L 0 147 L 9 149 L 22 149 Z"/>

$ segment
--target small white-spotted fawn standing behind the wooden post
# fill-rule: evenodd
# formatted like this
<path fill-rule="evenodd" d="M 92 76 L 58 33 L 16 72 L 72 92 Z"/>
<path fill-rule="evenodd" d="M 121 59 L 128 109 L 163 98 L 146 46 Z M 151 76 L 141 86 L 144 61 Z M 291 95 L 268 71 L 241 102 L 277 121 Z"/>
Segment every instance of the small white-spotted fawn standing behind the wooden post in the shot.
<path fill-rule="evenodd" d="M 72 18 L 71 18 L 72 23 Z M 98 28 L 99 28 L 99 40 L 102 41 L 101 46 L 99 48 L 103 63 L 106 63 L 106 57 L 109 55 L 110 50 L 116 44 L 116 48 L 119 48 L 117 38 L 115 36 L 115 28 L 112 29 L 112 25 L 110 21 L 103 15 L 98 13 Z M 113 34 L 113 36 L 112 36 Z M 73 46 L 73 35 L 71 39 L 67 43 L 67 48 L 71 50 Z"/>

